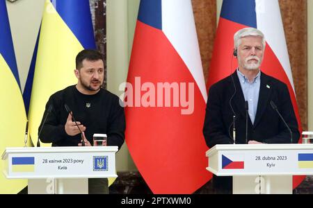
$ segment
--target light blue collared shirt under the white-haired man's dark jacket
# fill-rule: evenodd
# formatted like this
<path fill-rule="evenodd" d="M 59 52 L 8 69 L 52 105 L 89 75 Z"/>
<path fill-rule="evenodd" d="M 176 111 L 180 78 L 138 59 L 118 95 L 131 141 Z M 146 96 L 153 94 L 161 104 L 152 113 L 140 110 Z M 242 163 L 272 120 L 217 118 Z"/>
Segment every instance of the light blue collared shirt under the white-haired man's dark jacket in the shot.
<path fill-rule="evenodd" d="M 248 78 L 246 78 L 246 76 L 244 76 L 243 73 L 239 71 L 239 69 L 237 69 L 237 75 L 239 77 L 239 82 L 243 96 L 245 97 L 245 101 L 248 101 L 248 114 L 253 124 L 255 122 L 255 115 L 257 114 L 257 102 L 259 101 L 261 71 L 257 73 L 257 76 L 253 78 L 251 83 L 249 82 Z"/>

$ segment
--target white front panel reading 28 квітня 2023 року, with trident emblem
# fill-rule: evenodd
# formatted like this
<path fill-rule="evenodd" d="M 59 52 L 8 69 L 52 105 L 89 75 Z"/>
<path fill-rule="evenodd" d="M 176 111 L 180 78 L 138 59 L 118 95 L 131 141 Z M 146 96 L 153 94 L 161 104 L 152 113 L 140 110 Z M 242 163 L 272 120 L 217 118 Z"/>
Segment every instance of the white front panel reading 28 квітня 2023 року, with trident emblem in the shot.
<path fill-rule="evenodd" d="M 8 178 L 116 177 L 116 151 L 117 148 L 110 146 L 21 148 L 17 153 L 7 149 L 6 175 Z"/>

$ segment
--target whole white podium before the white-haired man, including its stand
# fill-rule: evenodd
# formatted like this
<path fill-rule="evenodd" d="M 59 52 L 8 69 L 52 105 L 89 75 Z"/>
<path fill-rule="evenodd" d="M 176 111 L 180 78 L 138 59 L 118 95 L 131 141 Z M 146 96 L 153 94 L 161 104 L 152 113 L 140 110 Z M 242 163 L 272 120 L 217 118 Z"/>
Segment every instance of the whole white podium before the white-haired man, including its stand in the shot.
<path fill-rule="evenodd" d="M 292 175 L 313 175 L 313 144 L 220 144 L 207 170 L 233 176 L 233 193 L 292 193 Z"/>

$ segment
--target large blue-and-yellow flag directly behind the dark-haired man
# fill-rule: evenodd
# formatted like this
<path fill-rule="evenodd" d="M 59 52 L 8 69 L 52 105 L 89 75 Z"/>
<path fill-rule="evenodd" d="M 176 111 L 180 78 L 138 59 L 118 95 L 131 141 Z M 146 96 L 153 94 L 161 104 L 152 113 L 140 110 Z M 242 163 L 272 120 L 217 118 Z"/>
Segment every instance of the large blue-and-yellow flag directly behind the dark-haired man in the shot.
<path fill-rule="evenodd" d="M 95 49 L 89 1 L 46 0 L 29 105 L 33 144 L 37 144 L 38 127 L 49 96 L 77 83 L 75 58 L 83 49 Z"/>

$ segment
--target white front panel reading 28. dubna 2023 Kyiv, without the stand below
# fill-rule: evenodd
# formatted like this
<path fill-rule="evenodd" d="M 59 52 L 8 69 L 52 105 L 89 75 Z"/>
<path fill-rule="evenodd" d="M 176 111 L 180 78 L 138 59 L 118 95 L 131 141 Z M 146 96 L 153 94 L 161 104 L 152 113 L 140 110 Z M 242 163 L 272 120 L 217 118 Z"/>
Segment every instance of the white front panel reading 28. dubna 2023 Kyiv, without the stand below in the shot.
<path fill-rule="evenodd" d="M 313 173 L 313 146 L 311 144 L 225 145 L 217 149 L 218 164 L 216 171 L 212 171 L 216 175 L 308 175 Z M 215 157 L 214 154 L 208 153 L 209 159 L 209 155 L 212 158 Z"/>

